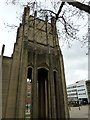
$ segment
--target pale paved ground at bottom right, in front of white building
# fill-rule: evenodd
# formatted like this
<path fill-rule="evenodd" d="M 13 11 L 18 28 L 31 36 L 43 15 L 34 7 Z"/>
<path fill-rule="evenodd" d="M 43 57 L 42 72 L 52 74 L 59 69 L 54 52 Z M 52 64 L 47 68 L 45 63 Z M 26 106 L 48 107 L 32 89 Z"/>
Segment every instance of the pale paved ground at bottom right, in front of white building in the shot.
<path fill-rule="evenodd" d="M 78 119 L 83 118 L 83 120 L 90 120 L 90 107 L 89 106 L 80 106 L 80 108 L 70 107 L 69 113 L 70 113 L 70 118 L 78 118 Z"/>

